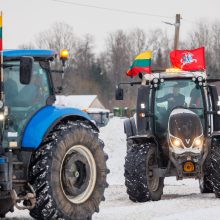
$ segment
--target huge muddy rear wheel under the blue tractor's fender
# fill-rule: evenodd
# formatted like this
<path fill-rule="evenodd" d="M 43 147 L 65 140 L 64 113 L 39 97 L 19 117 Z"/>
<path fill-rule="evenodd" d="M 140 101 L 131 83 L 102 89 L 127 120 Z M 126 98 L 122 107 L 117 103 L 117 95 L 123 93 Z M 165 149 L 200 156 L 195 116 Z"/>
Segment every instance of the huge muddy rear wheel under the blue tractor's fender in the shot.
<path fill-rule="evenodd" d="M 61 124 L 32 157 L 35 219 L 90 220 L 107 187 L 107 155 L 98 133 L 84 122 Z"/>

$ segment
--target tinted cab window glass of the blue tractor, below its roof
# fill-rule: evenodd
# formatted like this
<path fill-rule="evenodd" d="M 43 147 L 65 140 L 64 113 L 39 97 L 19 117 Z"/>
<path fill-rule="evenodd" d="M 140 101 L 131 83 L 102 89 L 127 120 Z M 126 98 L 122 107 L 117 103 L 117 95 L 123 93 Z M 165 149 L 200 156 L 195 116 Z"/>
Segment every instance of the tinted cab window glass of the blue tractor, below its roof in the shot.
<path fill-rule="evenodd" d="M 5 105 L 9 108 L 8 132 L 18 134 L 18 138 L 26 123 L 33 114 L 46 105 L 51 95 L 46 62 L 34 63 L 31 82 L 28 85 L 20 83 L 19 61 L 4 63 L 4 93 Z M 7 141 L 5 141 L 7 143 Z"/>

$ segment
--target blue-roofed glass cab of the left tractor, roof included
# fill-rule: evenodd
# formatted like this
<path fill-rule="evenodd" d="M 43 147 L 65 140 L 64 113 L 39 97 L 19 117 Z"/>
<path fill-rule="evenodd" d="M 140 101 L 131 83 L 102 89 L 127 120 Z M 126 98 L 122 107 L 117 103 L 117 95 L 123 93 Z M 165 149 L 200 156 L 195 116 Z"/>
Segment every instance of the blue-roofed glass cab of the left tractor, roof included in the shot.
<path fill-rule="evenodd" d="M 9 120 L 8 129 L 3 136 L 4 147 L 9 147 L 10 142 L 18 145 L 30 118 L 55 100 L 50 75 L 50 61 L 55 56 L 54 51 L 45 50 L 4 52 L 4 106 L 8 109 Z M 29 73 L 22 69 L 22 57 L 33 59 Z M 25 66 L 27 68 L 27 63 Z M 23 75 L 21 71 L 24 72 Z"/>

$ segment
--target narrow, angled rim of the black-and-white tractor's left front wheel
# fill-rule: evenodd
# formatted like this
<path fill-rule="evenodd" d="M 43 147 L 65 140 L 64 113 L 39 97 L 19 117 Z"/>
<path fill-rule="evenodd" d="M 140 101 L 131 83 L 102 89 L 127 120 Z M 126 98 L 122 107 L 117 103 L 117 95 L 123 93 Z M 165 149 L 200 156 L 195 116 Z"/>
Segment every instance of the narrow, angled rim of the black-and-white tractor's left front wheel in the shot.
<path fill-rule="evenodd" d="M 151 191 L 157 191 L 160 183 L 160 177 L 154 175 L 154 167 L 155 167 L 155 158 L 154 154 L 151 154 L 148 164 L 147 164 L 147 174 L 148 174 L 148 185 Z"/>

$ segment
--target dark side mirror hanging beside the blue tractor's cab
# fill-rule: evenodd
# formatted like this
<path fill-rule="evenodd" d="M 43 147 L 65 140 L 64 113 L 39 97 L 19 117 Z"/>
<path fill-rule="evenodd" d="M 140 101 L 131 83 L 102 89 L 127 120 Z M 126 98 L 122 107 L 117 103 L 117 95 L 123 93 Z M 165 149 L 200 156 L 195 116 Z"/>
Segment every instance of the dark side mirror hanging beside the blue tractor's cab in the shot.
<path fill-rule="evenodd" d="M 33 74 L 34 58 L 21 57 L 20 60 L 20 83 L 28 85 Z"/>

